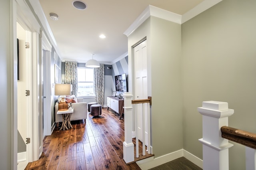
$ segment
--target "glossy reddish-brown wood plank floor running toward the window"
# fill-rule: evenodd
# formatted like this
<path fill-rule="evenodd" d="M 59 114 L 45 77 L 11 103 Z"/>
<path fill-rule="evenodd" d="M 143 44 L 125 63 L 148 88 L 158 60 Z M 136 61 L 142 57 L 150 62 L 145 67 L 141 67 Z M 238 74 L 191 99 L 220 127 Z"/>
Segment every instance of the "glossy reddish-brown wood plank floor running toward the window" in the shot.
<path fill-rule="evenodd" d="M 44 138 L 42 156 L 25 170 L 140 170 L 123 160 L 124 120 L 113 111 L 102 108 L 98 118 L 88 115 L 86 123 L 71 123 L 73 128 L 56 127 Z"/>

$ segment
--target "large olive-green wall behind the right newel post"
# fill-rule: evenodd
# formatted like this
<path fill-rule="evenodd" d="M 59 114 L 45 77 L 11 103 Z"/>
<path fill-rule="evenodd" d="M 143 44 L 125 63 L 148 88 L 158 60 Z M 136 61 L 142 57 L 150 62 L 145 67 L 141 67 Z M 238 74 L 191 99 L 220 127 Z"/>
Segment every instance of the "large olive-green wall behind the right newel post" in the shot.
<path fill-rule="evenodd" d="M 229 126 L 256 133 L 255 64 L 255 0 L 223 0 L 182 24 L 185 150 L 202 158 L 202 101 L 228 102 Z M 230 169 L 245 169 L 244 146 L 234 144 L 229 160 Z"/>

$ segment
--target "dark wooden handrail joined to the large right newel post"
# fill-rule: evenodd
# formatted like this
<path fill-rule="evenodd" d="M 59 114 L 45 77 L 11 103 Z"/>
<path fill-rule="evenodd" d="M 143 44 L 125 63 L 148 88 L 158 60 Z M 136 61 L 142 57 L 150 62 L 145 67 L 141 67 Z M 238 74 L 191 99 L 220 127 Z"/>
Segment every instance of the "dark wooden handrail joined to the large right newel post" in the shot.
<path fill-rule="evenodd" d="M 227 126 L 221 127 L 220 130 L 222 138 L 256 149 L 255 133 Z"/>

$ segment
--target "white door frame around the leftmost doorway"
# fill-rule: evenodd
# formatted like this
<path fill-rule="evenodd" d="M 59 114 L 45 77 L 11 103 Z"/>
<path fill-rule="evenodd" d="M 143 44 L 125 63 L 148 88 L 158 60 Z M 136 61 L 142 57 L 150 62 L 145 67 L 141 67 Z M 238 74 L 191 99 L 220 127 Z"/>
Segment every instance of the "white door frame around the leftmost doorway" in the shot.
<path fill-rule="evenodd" d="M 19 22 L 19 24 L 28 32 L 30 32 L 30 59 L 31 59 L 31 65 L 30 68 L 31 71 L 31 89 L 30 89 L 30 95 L 31 95 L 31 102 L 30 102 L 30 115 L 29 122 L 28 122 L 28 136 L 30 137 L 30 149 L 32 152 L 27 156 L 27 160 L 29 162 L 38 160 L 40 154 L 40 149 L 42 146 L 39 146 L 38 142 L 38 131 L 39 131 L 39 125 L 38 122 L 38 113 L 40 112 L 40 107 L 38 107 L 38 99 L 40 98 L 40 93 L 38 93 L 39 85 L 38 85 L 38 49 L 39 49 L 39 32 L 40 32 L 40 25 L 38 24 L 35 17 L 32 15 L 31 10 L 28 8 L 28 5 L 26 4 L 25 0 L 12 0 L 13 4 L 13 28 L 14 28 L 14 43 L 16 43 L 16 21 Z M 15 45 L 14 45 L 15 47 Z M 14 49 L 14 53 L 17 53 L 17 50 Z M 32 57 L 33 56 L 33 57 Z M 14 65 L 16 65 L 16 59 L 14 59 Z M 16 72 L 14 72 L 14 77 L 16 76 Z M 14 86 L 14 88 L 16 88 Z M 14 89 L 14 96 L 17 96 L 17 90 Z M 15 103 L 15 102 L 14 102 Z M 17 110 L 17 105 L 14 105 L 14 111 Z M 32 114 L 33 113 L 33 114 Z M 14 113 L 14 119 L 17 119 L 17 113 Z M 17 121 L 14 122 L 14 130 L 17 130 Z M 17 141 L 14 141 L 14 145 L 17 145 Z M 42 150 L 42 149 L 41 149 Z M 14 150 L 14 167 L 17 168 L 17 162 L 15 162 L 15 156 L 17 155 L 17 150 Z M 14 168 L 14 169 L 16 169 Z"/>

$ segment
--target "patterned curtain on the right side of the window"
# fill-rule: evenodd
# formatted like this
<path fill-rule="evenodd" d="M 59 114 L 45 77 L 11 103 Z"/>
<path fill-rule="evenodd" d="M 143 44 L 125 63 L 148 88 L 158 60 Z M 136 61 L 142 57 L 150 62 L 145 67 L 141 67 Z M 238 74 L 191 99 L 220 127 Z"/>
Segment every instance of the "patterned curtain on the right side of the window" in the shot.
<path fill-rule="evenodd" d="M 96 102 L 104 106 L 104 64 L 100 67 L 94 68 L 94 93 Z"/>

